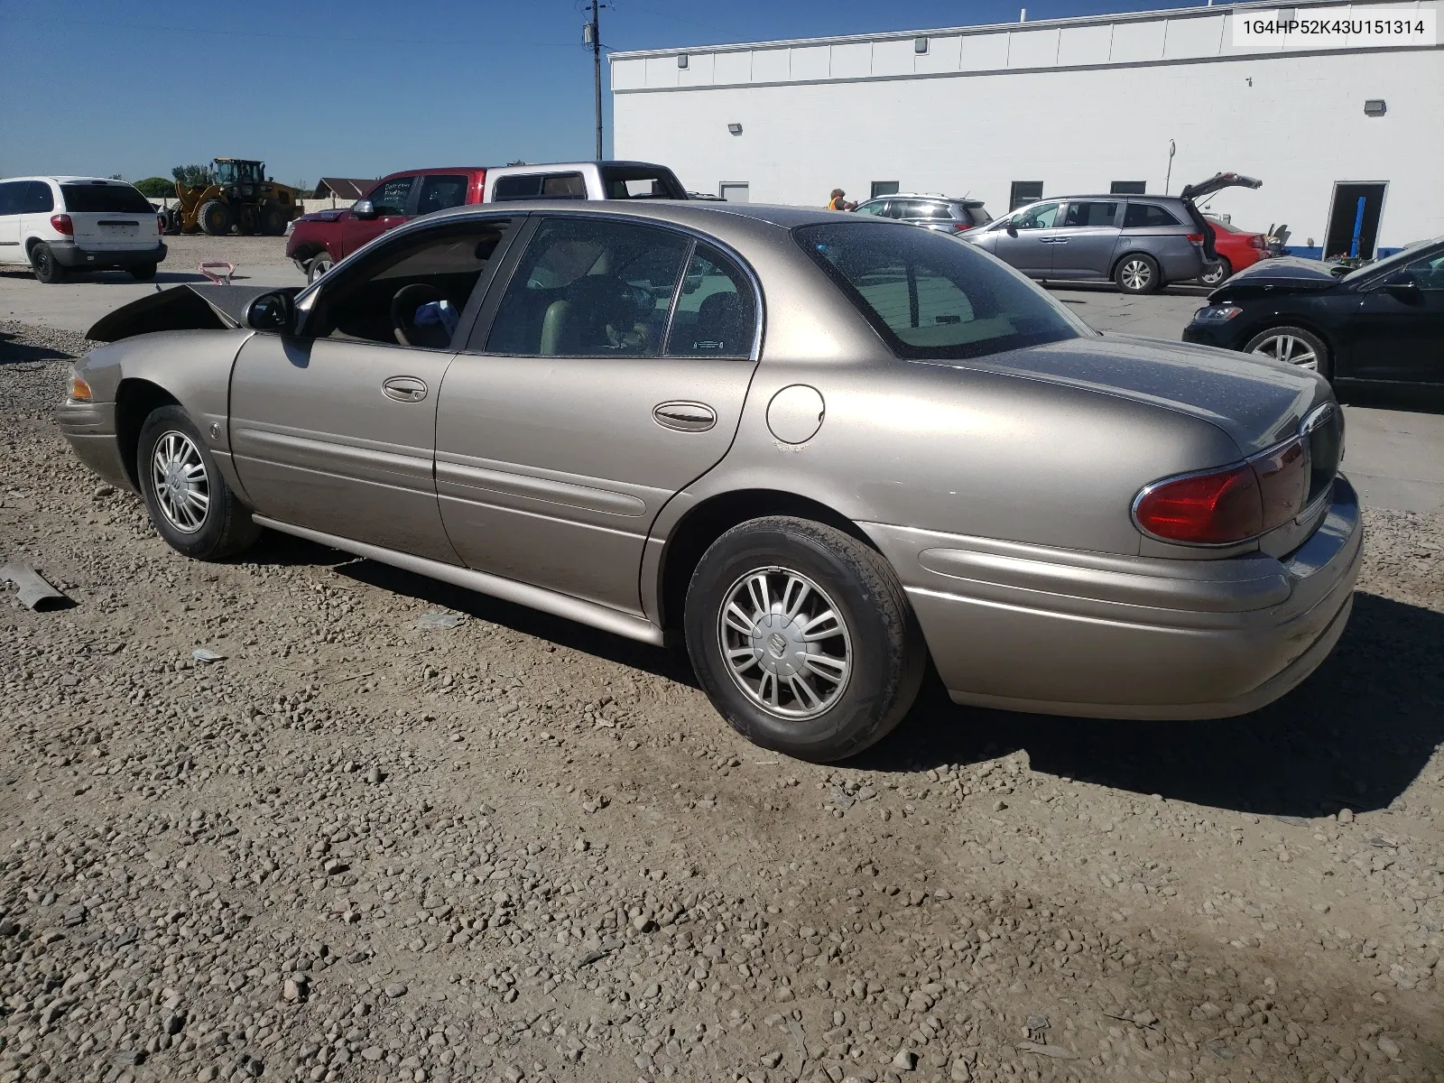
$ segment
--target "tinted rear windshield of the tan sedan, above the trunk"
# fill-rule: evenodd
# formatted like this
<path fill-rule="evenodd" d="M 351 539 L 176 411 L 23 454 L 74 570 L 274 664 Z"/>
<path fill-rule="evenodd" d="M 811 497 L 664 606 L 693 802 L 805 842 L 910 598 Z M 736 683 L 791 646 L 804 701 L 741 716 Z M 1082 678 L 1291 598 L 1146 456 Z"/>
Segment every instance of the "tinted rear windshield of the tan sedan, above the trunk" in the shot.
<path fill-rule="evenodd" d="M 928 230 L 804 225 L 803 251 L 904 358 L 969 358 L 1092 334 L 986 253 Z"/>

